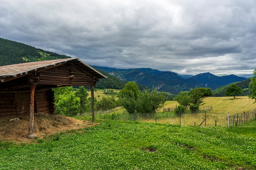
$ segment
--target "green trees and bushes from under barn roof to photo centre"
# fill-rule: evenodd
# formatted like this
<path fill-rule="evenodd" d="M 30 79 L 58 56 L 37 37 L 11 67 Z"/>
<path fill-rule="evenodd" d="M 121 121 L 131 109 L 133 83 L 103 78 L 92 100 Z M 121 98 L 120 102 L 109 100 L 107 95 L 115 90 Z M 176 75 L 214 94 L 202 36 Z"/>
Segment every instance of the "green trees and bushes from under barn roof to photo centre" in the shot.
<path fill-rule="evenodd" d="M 82 115 L 91 111 L 92 99 L 84 86 L 79 88 L 60 87 L 54 88 L 55 113 L 67 116 Z M 114 95 L 103 97 L 100 101 L 94 98 L 94 110 L 108 110 L 117 106 L 124 106 L 131 115 L 136 113 L 150 113 L 154 115 L 159 108 L 164 106 L 166 95 L 158 92 L 156 88 L 139 90 L 135 82 L 128 82 L 117 94 L 119 99 L 115 100 Z"/>

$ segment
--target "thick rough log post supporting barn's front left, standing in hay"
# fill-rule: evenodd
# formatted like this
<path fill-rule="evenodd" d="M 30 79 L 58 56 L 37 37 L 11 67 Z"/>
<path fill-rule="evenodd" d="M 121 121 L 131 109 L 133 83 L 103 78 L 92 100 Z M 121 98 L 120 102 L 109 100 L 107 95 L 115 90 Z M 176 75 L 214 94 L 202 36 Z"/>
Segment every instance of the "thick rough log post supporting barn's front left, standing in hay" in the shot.
<path fill-rule="evenodd" d="M 30 93 L 29 93 L 29 138 L 36 138 L 34 134 L 34 101 L 35 101 L 35 89 L 36 83 L 30 85 Z"/>

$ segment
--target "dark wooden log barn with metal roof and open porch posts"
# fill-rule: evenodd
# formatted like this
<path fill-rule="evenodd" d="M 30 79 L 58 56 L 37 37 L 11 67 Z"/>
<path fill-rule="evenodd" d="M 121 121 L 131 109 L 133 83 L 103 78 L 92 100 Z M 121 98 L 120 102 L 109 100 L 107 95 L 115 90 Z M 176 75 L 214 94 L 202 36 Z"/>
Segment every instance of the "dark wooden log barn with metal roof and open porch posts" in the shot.
<path fill-rule="evenodd" d="M 106 78 L 78 58 L 0 66 L 0 117 L 29 115 L 29 135 L 34 134 L 34 113 L 54 114 L 54 91 L 60 86 L 93 87 Z M 92 121 L 94 121 L 92 100 Z"/>

